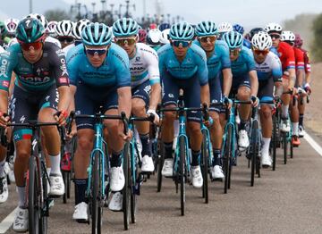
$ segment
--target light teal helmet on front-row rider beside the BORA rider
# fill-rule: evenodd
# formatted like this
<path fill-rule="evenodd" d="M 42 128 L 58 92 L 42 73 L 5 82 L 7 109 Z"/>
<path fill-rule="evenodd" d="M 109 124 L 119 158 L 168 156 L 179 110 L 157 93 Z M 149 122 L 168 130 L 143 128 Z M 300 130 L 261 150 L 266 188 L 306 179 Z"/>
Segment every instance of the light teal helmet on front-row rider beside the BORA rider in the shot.
<path fill-rule="evenodd" d="M 86 46 L 107 46 L 112 42 L 112 31 L 104 23 L 92 22 L 82 30 L 81 40 Z"/>

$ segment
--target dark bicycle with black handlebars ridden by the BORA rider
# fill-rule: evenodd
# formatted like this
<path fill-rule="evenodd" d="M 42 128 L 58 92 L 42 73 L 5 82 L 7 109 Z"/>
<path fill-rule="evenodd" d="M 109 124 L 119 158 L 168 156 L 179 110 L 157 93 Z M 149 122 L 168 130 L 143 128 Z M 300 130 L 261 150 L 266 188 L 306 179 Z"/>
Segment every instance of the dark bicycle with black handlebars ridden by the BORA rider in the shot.
<path fill-rule="evenodd" d="M 48 196 L 47 174 L 45 155 L 42 154 L 40 144 L 40 127 L 57 126 L 57 122 L 27 121 L 27 123 L 8 123 L 8 127 L 26 127 L 32 130 L 31 154 L 26 178 L 26 194 L 28 195 L 29 232 L 47 233 L 47 217 L 49 208 L 53 202 Z M 64 138 L 64 130 L 60 127 L 61 139 Z M 2 137 L 2 144 L 5 146 L 6 138 Z"/>

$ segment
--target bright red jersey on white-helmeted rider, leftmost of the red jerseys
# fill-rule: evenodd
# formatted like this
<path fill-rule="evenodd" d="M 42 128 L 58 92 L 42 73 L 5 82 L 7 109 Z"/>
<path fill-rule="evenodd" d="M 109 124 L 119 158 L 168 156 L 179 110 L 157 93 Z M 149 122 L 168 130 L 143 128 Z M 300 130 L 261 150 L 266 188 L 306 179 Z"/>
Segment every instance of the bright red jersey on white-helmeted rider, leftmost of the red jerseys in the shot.
<path fill-rule="evenodd" d="M 284 41 L 281 41 L 277 48 L 278 54 L 280 55 L 280 60 L 282 63 L 283 71 L 287 69 L 295 68 L 295 55 L 292 46 Z"/>

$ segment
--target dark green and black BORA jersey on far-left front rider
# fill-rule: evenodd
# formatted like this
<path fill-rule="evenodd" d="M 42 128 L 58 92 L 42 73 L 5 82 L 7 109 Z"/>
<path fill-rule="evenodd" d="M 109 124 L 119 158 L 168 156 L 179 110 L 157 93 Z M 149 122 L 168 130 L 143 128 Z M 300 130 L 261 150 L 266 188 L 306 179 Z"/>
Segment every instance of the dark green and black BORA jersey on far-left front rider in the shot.
<path fill-rule="evenodd" d="M 64 52 L 50 42 L 45 42 L 43 54 L 36 63 L 29 63 L 23 57 L 20 44 L 0 54 L 0 89 L 9 90 L 13 71 L 15 85 L 25 91 L 45 91 L 54 84 L 56 87 L 69 85 Z"/>

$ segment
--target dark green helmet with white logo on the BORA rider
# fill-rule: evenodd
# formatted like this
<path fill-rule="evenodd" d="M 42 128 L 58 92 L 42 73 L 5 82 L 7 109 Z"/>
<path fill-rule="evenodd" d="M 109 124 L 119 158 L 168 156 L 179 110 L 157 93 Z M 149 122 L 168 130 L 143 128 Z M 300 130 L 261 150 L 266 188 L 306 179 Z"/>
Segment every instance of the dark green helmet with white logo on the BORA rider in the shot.
<path fill-rule="evenodd" d="M 45 37 L 45 28 L 40 21 L 25 18 L 18 23 L 16 38 L 24 43 L 33 43 Z"/>

